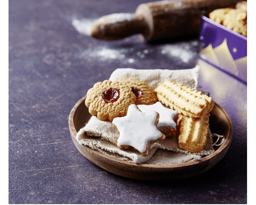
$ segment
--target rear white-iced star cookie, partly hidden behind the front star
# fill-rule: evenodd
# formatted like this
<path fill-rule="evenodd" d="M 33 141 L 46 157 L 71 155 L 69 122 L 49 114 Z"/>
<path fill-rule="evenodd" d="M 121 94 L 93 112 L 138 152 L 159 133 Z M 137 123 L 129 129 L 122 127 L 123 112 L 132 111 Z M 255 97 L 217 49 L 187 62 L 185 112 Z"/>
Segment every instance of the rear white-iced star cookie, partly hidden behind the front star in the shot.
<path fill-rule="evenodd" d="M 159 113 L 158 130 L 160 130 L 166 137 L 171 137 L 176 133 L 178 120 L 177 111 L 164 107 L 159 101 L 153 105 L 137 105 L 137 107 L 142 112 L 156 111 Z"/>

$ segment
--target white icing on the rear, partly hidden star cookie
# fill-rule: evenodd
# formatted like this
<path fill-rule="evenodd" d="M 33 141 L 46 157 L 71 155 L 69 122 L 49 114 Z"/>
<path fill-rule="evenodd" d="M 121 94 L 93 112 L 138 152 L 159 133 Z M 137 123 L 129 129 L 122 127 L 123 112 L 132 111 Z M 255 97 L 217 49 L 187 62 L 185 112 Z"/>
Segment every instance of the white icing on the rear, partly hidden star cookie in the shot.
<path fill-rule="evenodd" d="M 173 120 L 173 118 L 178 114 L 177 111 L 164 107 L 164 105 L 159 101 L 153 105 L 137 105 L 137 106 L 142 112 L 151 112 L 151 111 L 158 112 L 160 115 L 158 127 L 170 126 L 172 128 L 175 128 L 176 123 Z"/>

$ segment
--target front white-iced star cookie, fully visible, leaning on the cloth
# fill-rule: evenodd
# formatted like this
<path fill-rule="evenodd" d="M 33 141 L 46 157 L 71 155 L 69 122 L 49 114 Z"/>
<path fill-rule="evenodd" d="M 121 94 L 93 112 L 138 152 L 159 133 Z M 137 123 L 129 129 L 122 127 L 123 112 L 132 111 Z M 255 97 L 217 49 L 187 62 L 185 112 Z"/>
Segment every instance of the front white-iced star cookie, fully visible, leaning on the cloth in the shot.
<path fill-rule="evenodd" d="M 127 115 L 116 117 L 112 124 L 118 129 L 117 146 L 134 148 L 141 155 L 147 155 L 155 142 L 165 139 L 158 129 L 159 114 L 156 111 L 141 112 L 136 105 L 130 105 Z"/>

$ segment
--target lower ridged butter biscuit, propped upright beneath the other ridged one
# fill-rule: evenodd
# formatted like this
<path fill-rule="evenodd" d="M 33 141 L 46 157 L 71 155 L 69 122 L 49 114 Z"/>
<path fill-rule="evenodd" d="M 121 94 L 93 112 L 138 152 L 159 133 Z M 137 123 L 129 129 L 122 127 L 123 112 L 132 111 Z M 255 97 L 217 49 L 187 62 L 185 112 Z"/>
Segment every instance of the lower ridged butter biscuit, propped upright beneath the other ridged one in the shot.
<path fill-rule="evenodd" d="M 207 142 L 209 116 L 210 114 L 198 118 L 182 117 L 178 136 L 179 148 L 193 153 L 203 150 Z"/>

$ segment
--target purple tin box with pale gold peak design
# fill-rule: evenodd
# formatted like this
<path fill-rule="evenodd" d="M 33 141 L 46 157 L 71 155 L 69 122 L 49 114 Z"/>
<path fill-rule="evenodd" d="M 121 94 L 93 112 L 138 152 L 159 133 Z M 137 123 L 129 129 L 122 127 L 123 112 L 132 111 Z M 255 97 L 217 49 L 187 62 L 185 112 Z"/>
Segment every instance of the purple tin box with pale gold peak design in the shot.
<path fill-rule="evenodd" d="M 247 84 L 247 37 L 201 17 L 200 57 Z"/>

